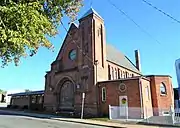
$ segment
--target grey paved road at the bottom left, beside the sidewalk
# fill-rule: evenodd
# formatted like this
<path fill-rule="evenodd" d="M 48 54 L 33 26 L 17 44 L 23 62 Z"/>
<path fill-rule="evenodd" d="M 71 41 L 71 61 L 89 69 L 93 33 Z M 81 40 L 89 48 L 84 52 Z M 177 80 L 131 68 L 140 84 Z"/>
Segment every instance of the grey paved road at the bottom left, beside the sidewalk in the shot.
<path fill-rule="evenodd" d="M 107 128 L 95 125 L 63 122 L 0 113 L 0 128 Z"/>

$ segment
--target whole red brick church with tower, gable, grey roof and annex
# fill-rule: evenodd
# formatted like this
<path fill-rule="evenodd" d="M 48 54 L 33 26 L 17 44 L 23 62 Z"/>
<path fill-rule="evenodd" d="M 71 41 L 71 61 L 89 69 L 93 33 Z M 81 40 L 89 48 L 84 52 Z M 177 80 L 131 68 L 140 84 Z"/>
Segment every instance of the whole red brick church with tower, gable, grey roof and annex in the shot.
<path fill-rule="evenodd" d="M 138 50 L 135 60 L 133 64 L 106 43 L 104 20 L 91 8 L 79 19 L 78 26 L 71 24 L 45 75 L 45 109 L 79 115 L 85 93 L 87 116 L 108 115 L 109 105 L 119 106 L 123 100 L 128 108 L 141 108 L 143 117 L 159 115 L 156 110 L 174 105 L 171 77 L 143 75 Z"/>

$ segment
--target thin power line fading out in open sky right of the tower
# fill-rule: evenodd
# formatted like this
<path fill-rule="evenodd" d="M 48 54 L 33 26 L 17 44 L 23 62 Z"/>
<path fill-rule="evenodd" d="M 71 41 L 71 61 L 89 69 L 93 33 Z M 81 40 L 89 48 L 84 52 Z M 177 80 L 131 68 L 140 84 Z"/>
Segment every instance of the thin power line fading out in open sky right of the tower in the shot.
<path fill-rule="evenodd" d="M 155 40 L 157 43 L 160 44 L 160 42 L 155 39 L 149 32 L 147 32 L 144 28 L 142 28 L 137 22 L 135 22 L 127 13 L 125 13 L 122 9 L 120 9 L 119 7 L 117 7 L 114 3 L 111 2 L 111 0 L 107 0 L 113 7 L 115 7 L 121 14 L 123 14 L 124 16 L 126 16 L 131 22 L 133 22 L 136 27 L 138 27 L 142 32 L 144 32 L 146 35 L 148 35 L 150 38 L 152 38 L 153 40 Z"/>

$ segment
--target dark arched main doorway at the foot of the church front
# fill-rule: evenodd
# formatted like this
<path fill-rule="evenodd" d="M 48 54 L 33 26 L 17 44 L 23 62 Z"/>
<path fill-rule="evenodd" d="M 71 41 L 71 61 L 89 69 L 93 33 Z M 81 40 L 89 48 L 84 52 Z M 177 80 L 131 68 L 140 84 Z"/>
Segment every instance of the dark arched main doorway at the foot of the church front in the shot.
<path fill-rule="evenodd" d="M 59 103 L 61 110 L 74 109 L 74 84 L 70 80 L 63 80 L 60 87 Z"/>

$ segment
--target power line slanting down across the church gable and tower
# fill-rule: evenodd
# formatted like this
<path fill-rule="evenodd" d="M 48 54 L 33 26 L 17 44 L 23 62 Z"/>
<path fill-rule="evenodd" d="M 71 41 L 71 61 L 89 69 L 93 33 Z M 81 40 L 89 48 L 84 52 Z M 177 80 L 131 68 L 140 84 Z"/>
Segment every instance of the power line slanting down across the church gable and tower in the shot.
<path fill-rule="evenodd" d="M 72 43 L 74 43 L 79 51 L 89 60 L 94 64 L 94 61 L 82 50 L 82 48 L 76 43 L 76 41 L 72 38 L 71 34 L 68 32 L 67 28 L 65 27 L 64 23 L 62 21 L 61 25 L 63 26 L 64 30 L 67 32 L 68 36 L 72 39 Z M 89 69 L 93 70 L 92 68 L 88 67 Z"/>

